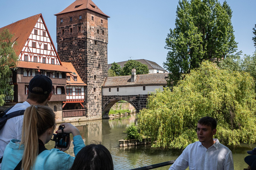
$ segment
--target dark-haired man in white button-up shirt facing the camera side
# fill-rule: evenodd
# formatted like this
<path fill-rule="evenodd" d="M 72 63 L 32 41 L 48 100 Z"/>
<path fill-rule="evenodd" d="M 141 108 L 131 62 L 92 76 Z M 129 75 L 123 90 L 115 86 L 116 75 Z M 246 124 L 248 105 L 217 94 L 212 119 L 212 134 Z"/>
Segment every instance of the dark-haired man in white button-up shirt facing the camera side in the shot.
<path fill-rule="evenodd" d="M 169 170 L 234 170 L 232 152 L 214 139 L 217 122 L 203 117 L 197 124 L 199 141 L 189 144 Z"/>

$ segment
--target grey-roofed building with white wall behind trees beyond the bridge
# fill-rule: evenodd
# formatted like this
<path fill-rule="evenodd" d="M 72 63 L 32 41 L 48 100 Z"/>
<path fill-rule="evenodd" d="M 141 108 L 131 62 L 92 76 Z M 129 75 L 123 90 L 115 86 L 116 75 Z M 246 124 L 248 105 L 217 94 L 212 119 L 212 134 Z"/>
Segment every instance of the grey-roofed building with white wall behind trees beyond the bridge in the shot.
<path fill-rule="evenodd" d="M 146 59 L 138 59 L 138 60 L 135 60 L 135 61 L 139 61 L 141 62 L 142 64 L 146 64 L 148 66 L 148 69 L 149 69 L 149 74 L 152 74 L 152 73 L 168 73 L 168 71 L 166 71 L 165 69 L 163 69 L 160 65 L 158 65 L 156 62 L 153 62 L 153 61 L 149 61 L 149 60 L 146 60 Z M 126 63 L 127 61 L 122 61 L 122 62 L 117 62 L 117 64 L 119 64 L 121 66 L 121 68 L 124 67 L 124 64 Z M 112 64 L 108 64 L 108 69 L 111 67 Z"/>

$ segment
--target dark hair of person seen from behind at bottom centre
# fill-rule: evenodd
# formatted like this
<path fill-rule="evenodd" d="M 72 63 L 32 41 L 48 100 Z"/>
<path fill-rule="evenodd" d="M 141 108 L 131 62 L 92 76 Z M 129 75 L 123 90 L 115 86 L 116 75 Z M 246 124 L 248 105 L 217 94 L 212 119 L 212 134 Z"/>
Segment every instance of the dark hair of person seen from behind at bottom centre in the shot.
<path fill-rule="evenodd" d="M 89 144 L 76 155 L 70 170 L 114 170 L 109 150 L 101 144 Z"/>

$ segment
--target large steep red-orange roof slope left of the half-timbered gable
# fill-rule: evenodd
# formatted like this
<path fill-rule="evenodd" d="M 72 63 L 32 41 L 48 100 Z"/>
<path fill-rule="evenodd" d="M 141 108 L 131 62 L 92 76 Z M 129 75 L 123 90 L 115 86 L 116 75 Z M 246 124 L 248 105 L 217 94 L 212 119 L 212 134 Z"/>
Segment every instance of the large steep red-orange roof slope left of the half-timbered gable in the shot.
<path fill-rule="evenodd" d="M 41 14 L 37 14 L 0 28 L 0 32 L 4 29 L 8 29 L 10 33 L 14 34 L 12 41 L 16 40 L 17 42 L 17 45 L 13 46 L 17 55 L 20 54 L 25 42 L 27 41 L 40 16 Z"/>

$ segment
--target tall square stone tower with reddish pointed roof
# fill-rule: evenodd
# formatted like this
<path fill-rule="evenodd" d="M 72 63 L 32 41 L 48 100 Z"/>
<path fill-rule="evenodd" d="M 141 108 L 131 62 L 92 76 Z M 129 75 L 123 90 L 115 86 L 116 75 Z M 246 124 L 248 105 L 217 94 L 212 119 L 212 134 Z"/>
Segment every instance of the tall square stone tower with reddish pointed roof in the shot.
<path fill-rule="evenodd" d="M 107 77 L 108 18 L 91 0 L 76 0 L 57 17 L 57 50 L 87 84 L 84 106 L 89 118 L 102 117 L 102 89 Z"/>

